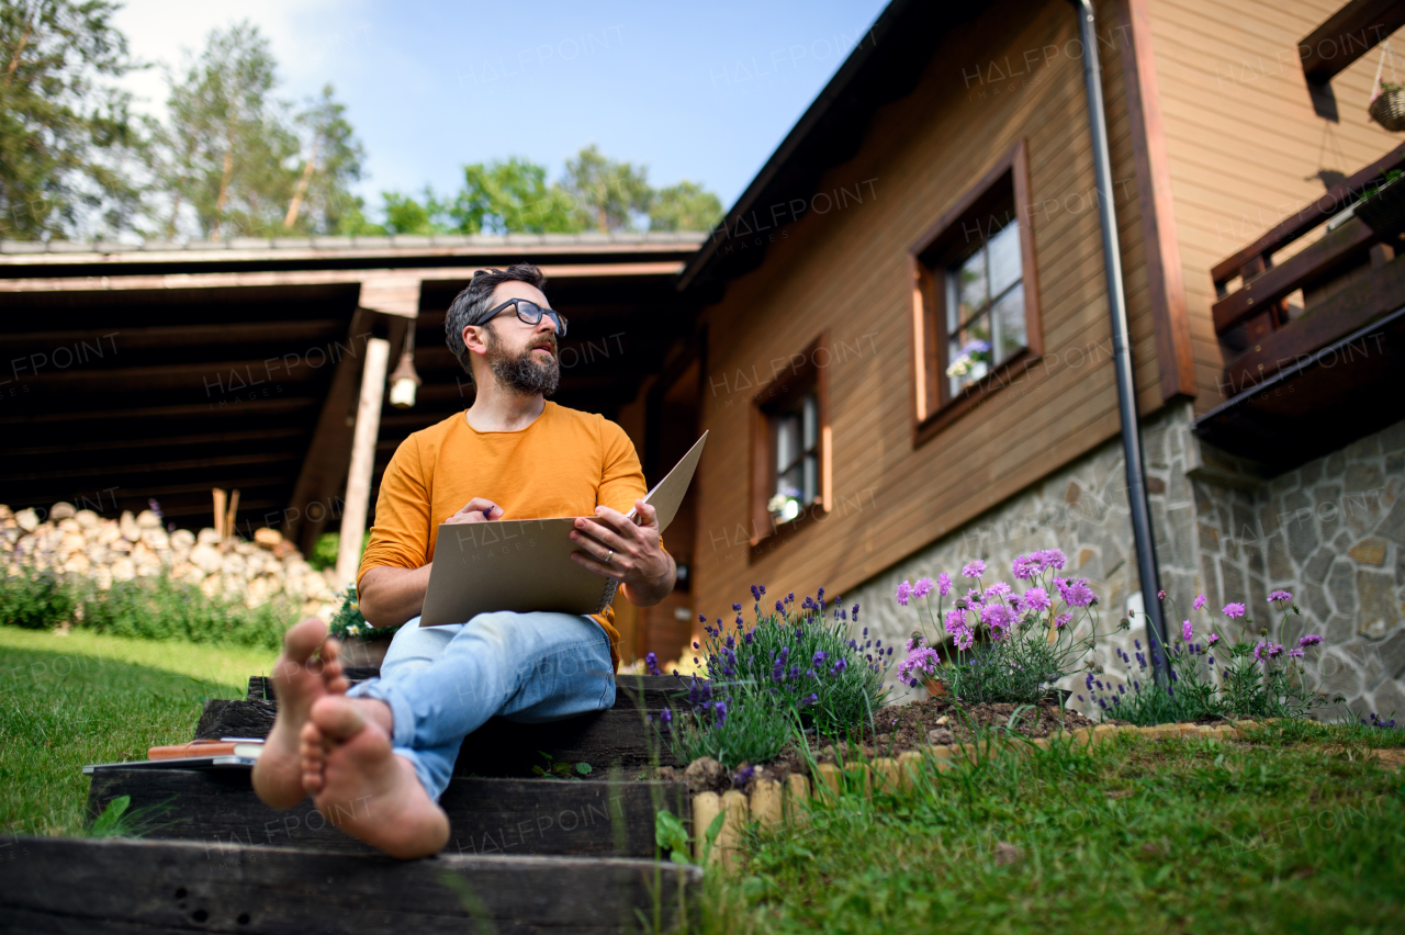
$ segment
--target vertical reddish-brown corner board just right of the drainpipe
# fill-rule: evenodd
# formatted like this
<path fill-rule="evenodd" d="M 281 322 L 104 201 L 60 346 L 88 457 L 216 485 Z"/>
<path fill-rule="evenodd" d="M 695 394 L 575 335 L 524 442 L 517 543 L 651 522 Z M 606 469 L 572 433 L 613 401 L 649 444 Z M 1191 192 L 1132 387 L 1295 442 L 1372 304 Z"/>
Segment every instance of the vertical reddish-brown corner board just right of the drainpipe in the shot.
<path fill-rule="evenodd" d="M 1156 326 L 1156 366 L 1161 397 L 1194 397 L 1196 361 L 1186 307 L 1184 267 L 1176 236 L 1176 208 L 1170 191 L 1170 159 L 1166 154 L 1161 91 L 1152 55 L 1151 15 L 1146 0 L 1123 0 L 1120 25 L 1130 42 L 1120 46 L 1127 115 L 1131 122 L 1132 157 L 1137 164 L 1137 202 L 1141 209 L 1142 248 L 1152 321 Z"/>

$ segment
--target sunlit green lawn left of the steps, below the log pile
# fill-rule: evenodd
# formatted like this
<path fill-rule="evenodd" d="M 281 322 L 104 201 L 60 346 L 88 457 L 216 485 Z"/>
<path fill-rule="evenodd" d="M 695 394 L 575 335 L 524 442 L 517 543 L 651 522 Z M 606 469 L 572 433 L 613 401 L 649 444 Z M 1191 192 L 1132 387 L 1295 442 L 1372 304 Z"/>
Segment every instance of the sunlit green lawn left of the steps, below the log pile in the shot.
<path fill-rule="evenodd" d="M 277 653 L 0 626 L 0 828 L 81 834 L 89 762 L 190 740 L 207 698 L 243 698 Z"/>

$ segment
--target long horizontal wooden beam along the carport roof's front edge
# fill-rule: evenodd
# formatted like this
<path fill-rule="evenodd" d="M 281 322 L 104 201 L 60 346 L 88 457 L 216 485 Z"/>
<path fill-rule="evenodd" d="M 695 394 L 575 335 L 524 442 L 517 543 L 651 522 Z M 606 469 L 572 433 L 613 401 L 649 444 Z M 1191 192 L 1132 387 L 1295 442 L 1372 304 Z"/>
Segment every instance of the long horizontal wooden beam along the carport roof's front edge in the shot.
<path fill-rule="evenodd" d="M 548 279 L 614 278 L 614 277 L 674 277 L 683 271 L 683 261 L 547 264 L 541 271 Z M 393 296 L 395 284 L 462 281 L 473 272 L 465 267 L 429 270 L 295 270 L 278 272 L 167 272 L 148 275 L 105 277 L 21 277 L 0 279 L 4 292 L 112 292 L 124 289 L 215 289 L 233 286 L 302 286 L 354 285 L 372 282 L 374 289 L 385 288 Z M 392 305 L 399 299 L 391 299 Z M 400 306 L 395 306 L 400 307 Z M 395 312 L 393 314 L 400 314 Z"/>

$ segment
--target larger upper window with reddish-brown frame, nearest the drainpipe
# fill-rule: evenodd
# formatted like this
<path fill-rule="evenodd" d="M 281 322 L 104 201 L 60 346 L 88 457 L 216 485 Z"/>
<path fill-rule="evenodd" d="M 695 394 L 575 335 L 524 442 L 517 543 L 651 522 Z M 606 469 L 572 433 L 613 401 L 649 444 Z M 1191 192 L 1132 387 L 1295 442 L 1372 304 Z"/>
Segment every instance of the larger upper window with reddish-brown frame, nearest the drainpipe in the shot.
<path fill-rule="evenodd" d="M 1009 383 L 1043 350 L 1026 146 L 1021 140 L 910 250 L 915 441 Z"/>

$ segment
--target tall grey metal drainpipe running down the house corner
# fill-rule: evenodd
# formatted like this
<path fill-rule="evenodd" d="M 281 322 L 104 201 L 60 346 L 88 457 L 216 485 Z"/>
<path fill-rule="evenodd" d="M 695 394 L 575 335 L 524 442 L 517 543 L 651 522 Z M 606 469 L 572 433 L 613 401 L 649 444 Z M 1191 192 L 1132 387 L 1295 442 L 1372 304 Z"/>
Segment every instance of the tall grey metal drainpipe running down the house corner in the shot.
<path fill-rule="evenodd" d="M 1146 608 L 1146 636 L 1156 658 L 1156 678 L 1168 674 L 1166 622 L 1161 615 L 1161 576 L 1156 546 L 1151 535 L 1151 504 L 1146 501 L 1146 472 L 1137 424 L 1137 393 L 1127 338 L 1127 293 L 1123 289 L 1121 244 L 1113 211 L 1111 157 L 1107 153 L 1107 114 L 1103 108 L 1103 76 L 1097 65 L 1097 18 L 1090 0 L 1072 0 L 1078 10 L 1078 32 L 1083 44 L 1083 87 L 1087 91 L 1087 129 L 1093 138 L 1093 175 L 1097 184 L 1097 218 L 1103 229 L 1103 268 L 1107 271 L 1107 306 L 1113 317 L 1113 366 L 1117 371 L 1117 410 L 1123 423 L 1123 460 L 1127 465 L 1127 504 L 1132 514 L 1132 542 L 1137 546 L 1137 576 L 1142 606 Z"/>

